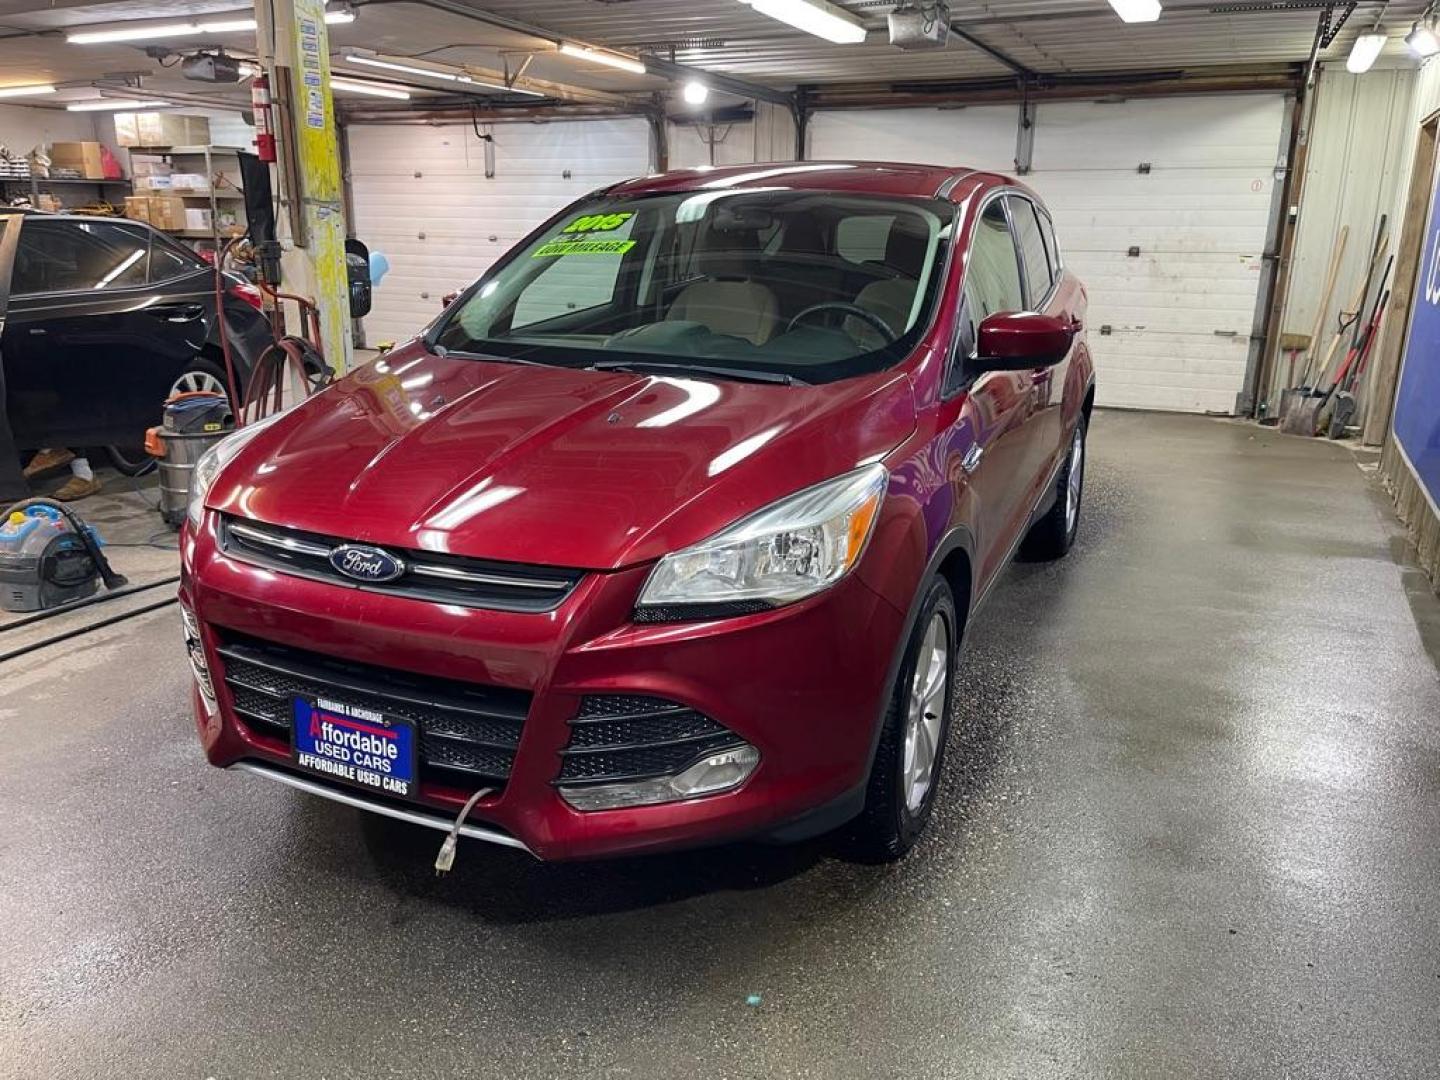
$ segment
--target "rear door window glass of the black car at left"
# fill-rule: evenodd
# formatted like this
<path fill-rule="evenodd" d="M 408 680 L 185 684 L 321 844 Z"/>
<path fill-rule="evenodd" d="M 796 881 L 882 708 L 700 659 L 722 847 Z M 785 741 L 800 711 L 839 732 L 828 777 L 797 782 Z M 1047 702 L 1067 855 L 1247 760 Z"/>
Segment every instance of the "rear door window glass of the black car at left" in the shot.
<path fill-rule="evenodd" d="M 145 284 L 148 235 L 108 222 L 26 220 L 10 291 L 88 292 Z"/>

